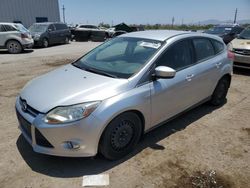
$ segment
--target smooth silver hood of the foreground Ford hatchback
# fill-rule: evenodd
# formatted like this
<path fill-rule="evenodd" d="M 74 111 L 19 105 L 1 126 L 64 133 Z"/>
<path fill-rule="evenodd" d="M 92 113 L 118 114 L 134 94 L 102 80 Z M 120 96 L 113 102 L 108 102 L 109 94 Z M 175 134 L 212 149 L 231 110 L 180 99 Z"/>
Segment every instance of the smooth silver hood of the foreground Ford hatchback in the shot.
<path fill-rule="evenodd" d="M 124 92 L 127 79 L 110 78 L 66 65 L 34 80 L 20 93 L 32 108 L 47 113 L 57 106 L 102 101 Z"/>

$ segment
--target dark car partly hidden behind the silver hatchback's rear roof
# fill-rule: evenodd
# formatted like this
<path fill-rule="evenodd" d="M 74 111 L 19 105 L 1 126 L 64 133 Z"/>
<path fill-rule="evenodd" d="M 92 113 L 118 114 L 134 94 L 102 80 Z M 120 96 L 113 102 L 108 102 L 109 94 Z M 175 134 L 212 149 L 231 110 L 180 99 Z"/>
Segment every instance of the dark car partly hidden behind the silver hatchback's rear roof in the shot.
<path fill-rule="evenodd" d="M 239 25 L 230 24 L 215 26 L 213 28 L 210 28 L 209 30 L 204 31 L 204 33 L 220 36 L 225 42 L 225 44 L 228 44 L 233 39 L 235 39 L 236 36 L 240 34 L 243 30 L 244 28 Z"/>

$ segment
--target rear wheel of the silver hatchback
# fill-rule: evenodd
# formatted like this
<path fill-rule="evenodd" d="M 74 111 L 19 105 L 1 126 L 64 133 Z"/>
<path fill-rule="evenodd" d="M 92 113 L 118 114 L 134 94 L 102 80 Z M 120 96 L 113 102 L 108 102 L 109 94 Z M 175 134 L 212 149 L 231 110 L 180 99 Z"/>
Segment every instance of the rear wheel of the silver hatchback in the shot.
<path fill-rule="evenodd" d="M 228 78 L 223 77 L 222 79 L 220 79 L 210 100 L 210 103 L 213 106 L 220 106 L 224 104 L 224 102 L 226 101 L 229 86 L 230 80 Z"/>

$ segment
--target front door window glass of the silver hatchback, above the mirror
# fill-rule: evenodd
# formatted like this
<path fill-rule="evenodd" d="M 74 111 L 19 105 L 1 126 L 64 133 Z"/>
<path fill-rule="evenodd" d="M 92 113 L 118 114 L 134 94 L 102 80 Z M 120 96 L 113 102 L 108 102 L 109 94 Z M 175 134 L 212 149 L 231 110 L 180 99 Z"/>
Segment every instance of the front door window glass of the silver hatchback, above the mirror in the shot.
<path fill-rule="evenodd" d="M 191 41 L 184 40 L 171 46 L 157 61 L 157 66 L 167 66 L 175 70 L 184 69 L 194 63 Z"/>

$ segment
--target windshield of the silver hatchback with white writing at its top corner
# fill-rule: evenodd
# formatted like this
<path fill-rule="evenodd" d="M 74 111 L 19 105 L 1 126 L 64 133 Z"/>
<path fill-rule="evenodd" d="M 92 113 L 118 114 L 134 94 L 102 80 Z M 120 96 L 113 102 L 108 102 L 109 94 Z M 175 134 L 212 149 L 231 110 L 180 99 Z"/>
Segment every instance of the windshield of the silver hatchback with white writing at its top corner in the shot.
<path fill-rule="evenodd" d="M 103 43 L 82 57 L 74 66 L 114 78 L 137 73 L 161 47 L 156 40 L 118 37 Z"/>

